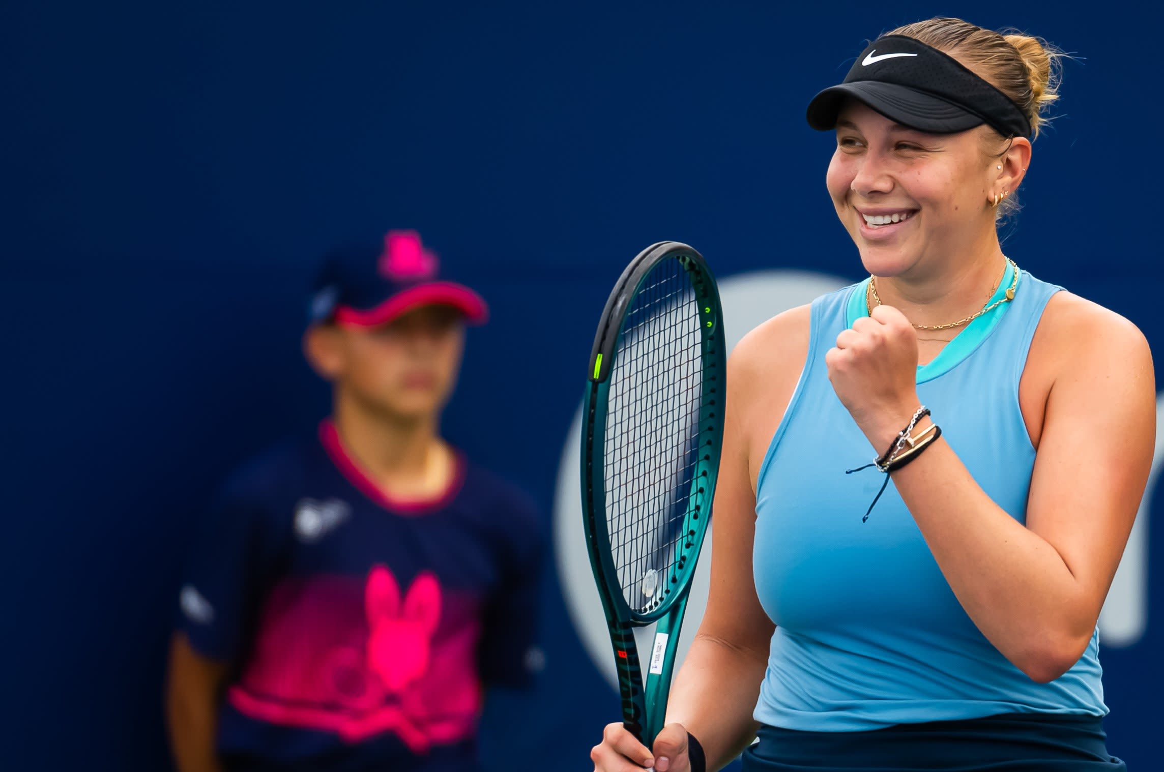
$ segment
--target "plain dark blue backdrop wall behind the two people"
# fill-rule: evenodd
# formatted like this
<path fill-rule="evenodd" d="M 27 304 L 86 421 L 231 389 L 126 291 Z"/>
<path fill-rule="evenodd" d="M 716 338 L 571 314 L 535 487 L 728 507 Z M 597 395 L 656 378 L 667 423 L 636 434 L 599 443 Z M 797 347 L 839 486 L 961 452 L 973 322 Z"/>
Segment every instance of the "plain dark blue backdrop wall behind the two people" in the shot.
<path fill-rule="evenodd" d="M 448 432 L 548 520 L 597 313 L 640 247 L 859 277 L 803 109 L 899 23 L 965 15 L 1086 57 L 1007 252 L 1164 345 L 1159 48 L 1138 37 L 1158 3 L 485 5 L 0 7 L 3 769 L 168 769 L 183 548 L 232 466 L 327 409 L 298 334 L 333 240 L 418 228 L 488 297 Z M 1151 587 L 1144 636 L 1103 652 L 1112 748 L 1140 770 Z M 497 770 L 588 770 L 617 715 L 556 576 L 544 605 L 538 693 L 487 713 Z"/>

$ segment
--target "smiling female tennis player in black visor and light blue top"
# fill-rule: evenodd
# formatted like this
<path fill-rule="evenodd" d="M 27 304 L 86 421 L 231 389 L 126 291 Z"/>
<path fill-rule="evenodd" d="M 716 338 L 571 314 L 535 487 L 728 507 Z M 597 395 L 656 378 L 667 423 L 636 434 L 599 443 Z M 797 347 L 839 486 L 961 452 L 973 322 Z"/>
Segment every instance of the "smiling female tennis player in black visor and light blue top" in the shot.
<path fill-rule="evenodd" d="M 596 770 L 1124 769 L 1095 625 L 1148 479 L 1151 355 L 996 235 L 1055 57 L 934 19 L 809 105 L 871 276 L 733 353 L 707 615 L 653 749 L 610 724 Z"/>

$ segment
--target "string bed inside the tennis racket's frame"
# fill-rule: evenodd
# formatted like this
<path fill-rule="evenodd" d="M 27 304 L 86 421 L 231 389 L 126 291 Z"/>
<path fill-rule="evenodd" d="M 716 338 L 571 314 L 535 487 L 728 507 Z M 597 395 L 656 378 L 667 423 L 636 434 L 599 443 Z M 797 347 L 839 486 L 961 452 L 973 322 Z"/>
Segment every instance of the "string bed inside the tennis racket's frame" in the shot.
<path fill-rule="evenodd" d="M 663 602 L 688 539 L 703 398 L 698 298 L 679 260 L 659 263 L 632 300 L 608 396 L 606 525 L 623 596 Z"/>

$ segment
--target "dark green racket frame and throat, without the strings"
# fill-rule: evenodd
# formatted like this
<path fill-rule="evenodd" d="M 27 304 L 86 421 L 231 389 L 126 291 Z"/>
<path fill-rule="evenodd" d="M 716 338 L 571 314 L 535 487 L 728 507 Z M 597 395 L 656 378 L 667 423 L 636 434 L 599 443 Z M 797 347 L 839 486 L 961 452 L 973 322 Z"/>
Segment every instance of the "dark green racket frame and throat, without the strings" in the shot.
<path fill-rule="evenodd" d="M 610 374 L 617 356 L 617 342 L 629 309 L 643 281 L 665 260 L 679 260 L 688 271 L 695 290 L 702 333 L 701 356 L 703 382 L 700 399 L 698 459 L 693 472 L 691 491 L 687 497 L 683 531 L 675 545 L 677 554 L 663 576 L 662 601 L 646 614 L 632 610 L 623 597 L 623 588 L 611 557 L 606 532 L 606 490 L 604 441 L 606 399 Z M 594 349 L 590 353 L 589 383 L 583 410 L 582 427 L 582 512 L 590 568 L 598 586 L 598 595 L 606 615 L 610 642 L 615 650 L 618 687 L 622 696 L 623 724 L 647 748 L 662 729 L 667 713 L 672 668 L 679 632 L 687 609 L 687 597 L 695 574 L 695 564 L 703 546 L 703 537 L 711 520 L 711 501 L 715 496 L 716 474 L 723 445 L 723 416 L 726 384 L 726 348 L 724 346 L 723 310 L 715 276 L 703 256 L 691 247 L 675 241 L 661 241 L 644 249 L 623 271 L 603 310 Z M 646 682 L 634 643 L 634 628 L 656 623 L 655 646 L 652 656 L 661 654 L 656 667 L 651 668 Z M 660 635 L 666 644 L 661 652 Z"/>

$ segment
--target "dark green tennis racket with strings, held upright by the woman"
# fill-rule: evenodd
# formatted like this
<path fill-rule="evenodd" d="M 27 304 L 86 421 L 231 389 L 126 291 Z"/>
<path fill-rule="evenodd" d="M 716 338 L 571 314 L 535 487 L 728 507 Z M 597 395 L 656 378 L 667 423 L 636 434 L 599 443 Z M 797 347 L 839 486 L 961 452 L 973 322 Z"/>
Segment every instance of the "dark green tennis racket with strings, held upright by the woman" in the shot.
<path fill-rule="evenodd" d="M 723 313 L 715 277 L 662 241 L 626 267 L 590 354 L 582 511 L 615 649 L 623 724 L 651 748 L 667 713 L 687 595 L 723 441 Z M 646 681 L 634 628 L 655 624 Z"/>

